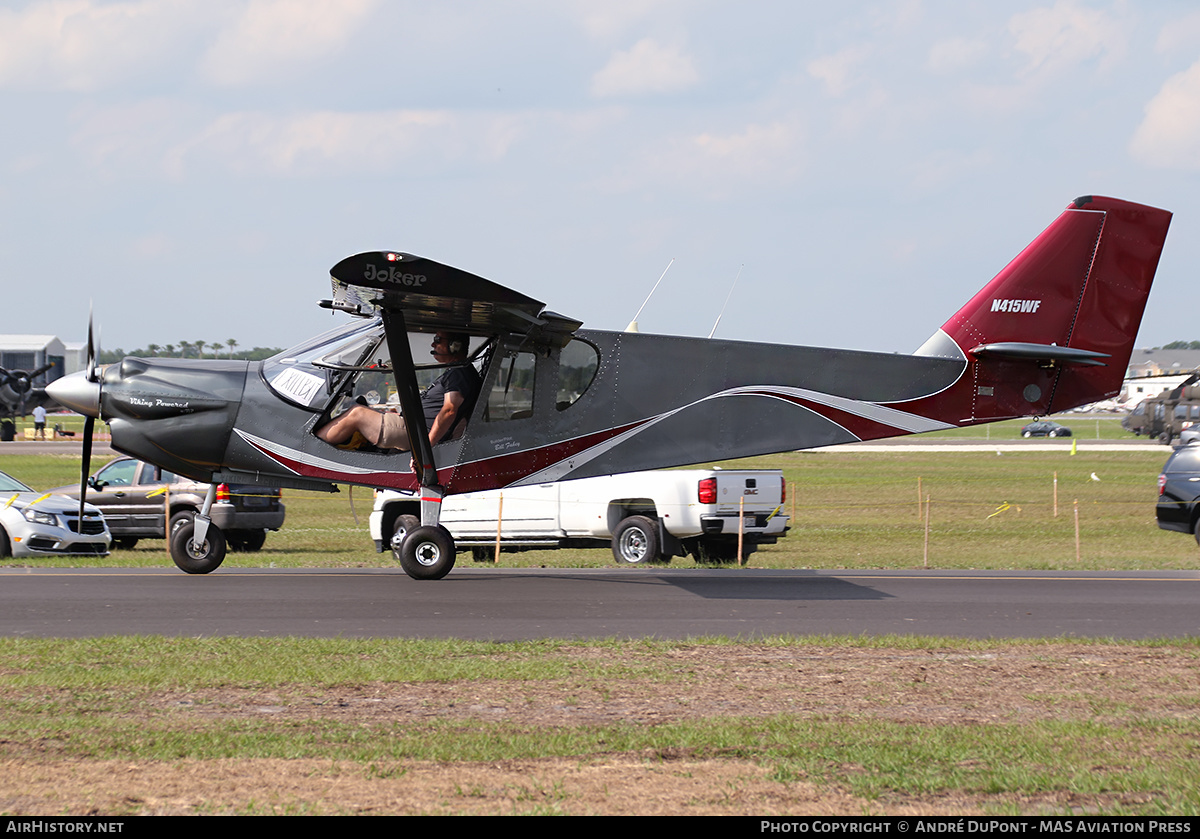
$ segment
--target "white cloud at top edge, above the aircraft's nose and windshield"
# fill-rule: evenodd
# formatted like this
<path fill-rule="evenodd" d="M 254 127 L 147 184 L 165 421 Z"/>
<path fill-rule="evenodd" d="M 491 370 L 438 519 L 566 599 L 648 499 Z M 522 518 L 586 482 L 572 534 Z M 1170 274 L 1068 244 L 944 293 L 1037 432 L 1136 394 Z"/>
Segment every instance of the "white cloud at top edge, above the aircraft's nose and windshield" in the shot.
<path fill-rule="evenodd" d="M 202 71 L 218 84 L 286 78 L 296 65 L 342 49 L 377 0 L 250 0 L 208 50 Z"/>

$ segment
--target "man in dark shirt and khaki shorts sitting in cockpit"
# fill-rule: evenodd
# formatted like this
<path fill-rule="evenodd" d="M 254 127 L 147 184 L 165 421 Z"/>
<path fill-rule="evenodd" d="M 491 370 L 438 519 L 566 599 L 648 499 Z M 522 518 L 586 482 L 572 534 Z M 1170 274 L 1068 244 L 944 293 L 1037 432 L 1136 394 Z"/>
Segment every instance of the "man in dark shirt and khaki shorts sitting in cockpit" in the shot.
<path fill-rule="evenodd" d="M 460 332 L 438 331 L 433 336 L 430 354 L 438 364 L 450 364 L 446 370 L 421 391 L 421 408 L 430 429 L 430 443 L 437 445 L 451 439 L 470 416 L 479 396 L 479 373 L 467 360 L 470 338 Z M 341 445 L 354 437 L 354 432 L 380 449 L 412 450 L 404 418 L 391 410 L 376 410 L 365 404 L 355 404 L 317 429 L 317 436 L 326 443 Z"/>

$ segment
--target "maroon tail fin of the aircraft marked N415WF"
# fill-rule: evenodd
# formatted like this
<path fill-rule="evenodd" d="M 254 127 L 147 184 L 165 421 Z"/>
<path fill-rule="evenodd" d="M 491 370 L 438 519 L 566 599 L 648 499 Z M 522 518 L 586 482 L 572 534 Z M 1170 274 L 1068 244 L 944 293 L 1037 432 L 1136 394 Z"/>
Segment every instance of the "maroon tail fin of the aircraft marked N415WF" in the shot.
<path fill-rule="evenodd" d="M 1076 198 L 918 350 L 970 370 L 958 423 L 1067 410 L 1117 394 L 1171 214 Z M 947 394 L 947 396 L 949 396 Z M 962 413 L 965 412 L 965 413 Z"/>

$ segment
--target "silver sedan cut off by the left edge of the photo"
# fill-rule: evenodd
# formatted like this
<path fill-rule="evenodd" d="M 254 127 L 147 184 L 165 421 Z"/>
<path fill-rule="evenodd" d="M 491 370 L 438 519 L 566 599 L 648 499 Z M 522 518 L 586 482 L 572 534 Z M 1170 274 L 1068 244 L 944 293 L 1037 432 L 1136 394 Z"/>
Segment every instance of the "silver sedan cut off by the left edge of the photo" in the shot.
<path fill-rule="evenodd" d="M 47 557 L 108 553 L 112 535 L 91 504 L 37 492 L 0 472 L 0 557 Z"/>

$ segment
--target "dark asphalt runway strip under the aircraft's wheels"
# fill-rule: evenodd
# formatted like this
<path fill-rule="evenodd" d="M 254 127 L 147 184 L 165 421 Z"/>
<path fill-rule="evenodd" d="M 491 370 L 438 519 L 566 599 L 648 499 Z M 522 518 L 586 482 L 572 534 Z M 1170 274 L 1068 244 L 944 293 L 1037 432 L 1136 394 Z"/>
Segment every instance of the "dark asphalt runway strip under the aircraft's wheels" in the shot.
<path fill-rule="evenodd" d="M 0 635 L 1200 635 L 1200 571 L 0 569 Z"/>

